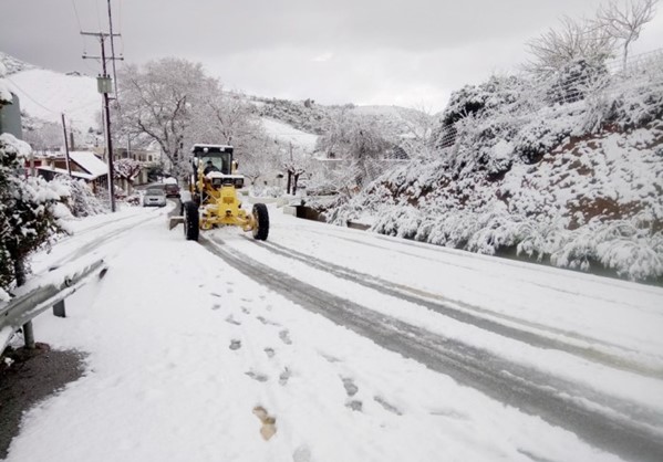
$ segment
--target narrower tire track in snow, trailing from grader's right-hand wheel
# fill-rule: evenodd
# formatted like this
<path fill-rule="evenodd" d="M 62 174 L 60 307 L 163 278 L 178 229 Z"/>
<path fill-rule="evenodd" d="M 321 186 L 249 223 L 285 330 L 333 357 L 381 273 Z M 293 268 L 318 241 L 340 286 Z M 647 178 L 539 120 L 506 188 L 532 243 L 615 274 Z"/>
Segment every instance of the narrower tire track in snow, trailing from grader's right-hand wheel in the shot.
<path fill-rule="evenodd" d="M 591 361 L 601 363 L 605 366 L 613 367 L 617 369 L 635 372 L 645 377 L 651 377 L 655 379 L 663 379 L 663 369 L 656 367 L 650 367 L 649 365 L 641 363 L 633 363 L 632 360 L 612 355 L 604 350 L 599 350 L 598 348 L 584 347 L 579 345 L 573 345 L 567 342 L 560 342 L 558 339 L 551 338 L 546 335 L 538 334 L 533 330 L 522 329 L 518 327 L 514 327 L 508 324 L 501 324 L 497 321 L 493 321 L 493 318 L 500 318 L 507 323 L 518 324 L 522 326 L 530 327 L 531 329 L 536 329 L 539 332 L 550 333 L 551 335 L 563 336 L 567 338 L 571 338 L 573 340 L 579 340 L 582 343 L 589 343 L 594 345 L 602 345 L 608 348 L 612 348 L 615 350 L 624 350 L 623 347 L 619 345 L 610 344 L 604 340 L 590 338 L 587 336 L 582 336 L 577 333 L 561 330 L 551 326 L 546 326 L 538 323 L 531 323 L 528 321 L 519 319 L 512 316 L 508 316 L 501 313 L 495 313 L 489 309 L 481 308 L 480 306 L 469 305 L 462 302 L 454 301 L 444 301 L 442 303 L 433 302 L 431 298 L 442 298 L 435 294 L 427 294 L 423 291 L 418 291 L 412 287 L 408 287 L 403 284 L 396 284 L 380 277 L 375 277 L 371 274 L 361 273 L 359 271 L 351 270 L 349 267 L 340 266 L 334 263 L 323 261 L 320 259 L 315 259 L 310 255 L 305 255 L 301 252 L 298 252 L 293 249 L 286 248 L 283 245 L 273 243 L 273 242 L 258 242 L 251 239 L 245 238 L 250 242 L 256 243 L 257 245 L 262 246 L 263 249 L 269 250 L 272 253 L 276 253 L 281 256 L 290 258 L 297 261 L 300 261 L 304 264 L 308 264 L 318 270 L 330 273 L 336 277 L 341 277 L 348 281 L 352 281 L 354 283 L 361 284 L 365 287 L 373 288 L 380 293 L 403 300 L 405 302 L 410 302 L 416 305 L 425 306 L 428 309 L 432 309 L 443 316 L 450 317 L 460 323 L 469 324 L 485 330 L 493 332 L 495 334 L 501 335 L 504 337 L 512 338 L 518 342 L 522 342 L 529 344 L 535 347 L 546 348 L 546 349 L 557 349 L 560 351 L 568 353 L 573 356 L 578 356 Z M 445 303 L 446 302 L 446 303 Z M 460 308 L 456 308 L 450 306 L 450 304 L 457 305 Z M 476 313 L 473 314 L 472 312 Z M 486 316 L 486 317 L 485 317 Z M 630 350 L 626 350 L 626 353 Z M 633 353 L 633 351 L 631 351 Z"/>

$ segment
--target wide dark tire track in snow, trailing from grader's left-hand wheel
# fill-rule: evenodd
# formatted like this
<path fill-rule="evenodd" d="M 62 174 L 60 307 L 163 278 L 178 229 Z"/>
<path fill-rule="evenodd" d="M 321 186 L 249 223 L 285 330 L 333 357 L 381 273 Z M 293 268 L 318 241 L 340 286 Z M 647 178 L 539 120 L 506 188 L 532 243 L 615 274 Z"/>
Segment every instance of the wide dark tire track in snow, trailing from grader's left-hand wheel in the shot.
<path fill-rule="evenodd" d="M 539 416 L 624 459 L 663 460 L 663 416 L 372 312 L 242 255 L 222 242 L 201 237 L 200 243 L 242 274 L 305 309 L 462 385 Z"/>

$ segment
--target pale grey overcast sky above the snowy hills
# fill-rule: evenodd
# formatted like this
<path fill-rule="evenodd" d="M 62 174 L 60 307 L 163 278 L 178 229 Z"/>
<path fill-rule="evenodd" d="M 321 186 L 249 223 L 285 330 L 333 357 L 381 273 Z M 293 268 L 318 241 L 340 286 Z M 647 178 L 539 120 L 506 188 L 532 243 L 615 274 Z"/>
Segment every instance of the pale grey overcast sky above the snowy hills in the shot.
<path fill-rule="evenodd" d="M 127 62 L 201 62 L 231 90 L 325 104 L 444 107 L 449 93 L 515 72 L 525 42 L 604 0 L 112 0 Z M 107 0 L 0 0 L 0 51 L 96 75 Z M 663 7 L 660 7 L 663 10 Z M 663 45 L 663 11 L 633 53 Z M 122 65 L 122 64 L 120 64 Z"/>

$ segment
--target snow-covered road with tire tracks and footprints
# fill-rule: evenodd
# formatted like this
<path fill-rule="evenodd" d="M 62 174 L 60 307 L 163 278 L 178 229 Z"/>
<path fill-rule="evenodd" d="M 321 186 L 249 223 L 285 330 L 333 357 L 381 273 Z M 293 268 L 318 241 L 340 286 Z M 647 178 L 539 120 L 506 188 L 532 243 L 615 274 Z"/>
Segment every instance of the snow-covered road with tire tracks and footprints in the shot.
<path fill-rule="evenodd" d="M 38 340 L 87 354 L 86 371 L 24 416 L 8 461 L 663 453 L 661 288 L 271 206 L 266 243 L 221 229 L 200 245 L 166 213 L 85 219 L 35 256 L 38 274 L 81 258 L 110 271 L 66 318 L 35 319 Z"/>

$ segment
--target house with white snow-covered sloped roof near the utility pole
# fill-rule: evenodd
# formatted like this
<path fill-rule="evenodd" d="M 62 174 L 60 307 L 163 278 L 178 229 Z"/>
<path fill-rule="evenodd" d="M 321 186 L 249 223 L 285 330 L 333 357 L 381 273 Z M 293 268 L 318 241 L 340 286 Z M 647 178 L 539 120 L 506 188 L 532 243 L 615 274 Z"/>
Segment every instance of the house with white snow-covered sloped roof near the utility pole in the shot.
<path fill-rule="evenodd" d="M 71 151 L 68 156 L 48 157 L 37 167 L 40 177 L 46 180 L 56 175 L 71 175 L 87 182 L 93 191 L 108 186 L 108 166 L 91 151 Z"/>

